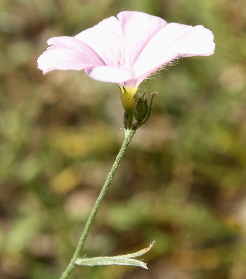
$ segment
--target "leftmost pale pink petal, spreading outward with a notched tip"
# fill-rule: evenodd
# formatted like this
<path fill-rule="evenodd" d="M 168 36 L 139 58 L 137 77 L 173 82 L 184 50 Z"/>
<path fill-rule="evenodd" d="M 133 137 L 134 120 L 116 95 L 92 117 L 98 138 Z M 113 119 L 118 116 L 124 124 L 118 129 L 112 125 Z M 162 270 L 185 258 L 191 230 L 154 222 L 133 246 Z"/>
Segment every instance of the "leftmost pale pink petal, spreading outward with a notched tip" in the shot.
<path fill-rule="evenodd" d="M 53 70 L 83 70 L 86 67 L 104 65 L 98 54 L 87 44 L 72 37 L 54 37 L 47 43 L 54 46 L 48 47 L 39 56 L 38 68 L 43 73 Z"/>

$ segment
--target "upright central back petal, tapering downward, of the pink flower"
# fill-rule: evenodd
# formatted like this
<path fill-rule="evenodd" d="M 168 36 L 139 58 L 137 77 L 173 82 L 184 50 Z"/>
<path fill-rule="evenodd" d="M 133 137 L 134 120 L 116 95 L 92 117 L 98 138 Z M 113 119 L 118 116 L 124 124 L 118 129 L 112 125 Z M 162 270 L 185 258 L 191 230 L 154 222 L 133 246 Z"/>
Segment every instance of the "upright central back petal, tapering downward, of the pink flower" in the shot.
<path fill-rule="evenodd" d="M 136 11 L 123 11 L 117 17 L 123 30 L 125 67 L 131 69 L 149 40 L 167 22 L 160 17 Z"/>

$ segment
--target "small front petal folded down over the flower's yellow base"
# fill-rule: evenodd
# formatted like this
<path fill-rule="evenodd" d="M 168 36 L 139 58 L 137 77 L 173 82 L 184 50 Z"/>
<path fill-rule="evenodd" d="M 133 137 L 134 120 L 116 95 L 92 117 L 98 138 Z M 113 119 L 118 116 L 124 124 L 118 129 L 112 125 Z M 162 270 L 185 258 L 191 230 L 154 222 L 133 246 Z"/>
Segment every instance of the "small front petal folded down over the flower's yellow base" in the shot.
<path fill-rule="evenodd" d="M 103 82 L 122 84 L 135 78 L 134 71 L 111 66 L 91 67 L 86 68 L 84 71 L 90 78 Z"/>

